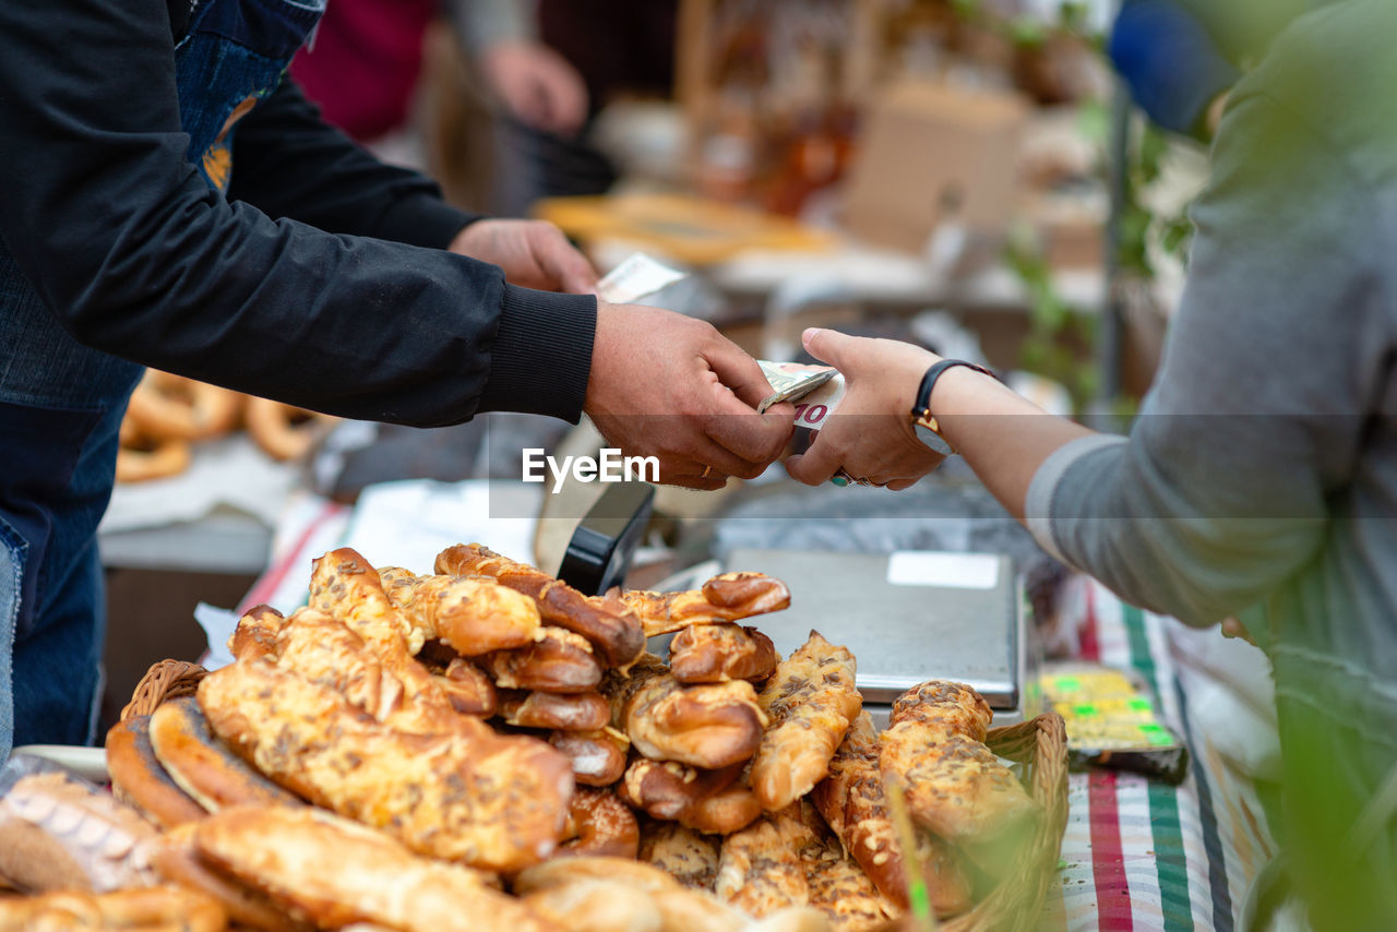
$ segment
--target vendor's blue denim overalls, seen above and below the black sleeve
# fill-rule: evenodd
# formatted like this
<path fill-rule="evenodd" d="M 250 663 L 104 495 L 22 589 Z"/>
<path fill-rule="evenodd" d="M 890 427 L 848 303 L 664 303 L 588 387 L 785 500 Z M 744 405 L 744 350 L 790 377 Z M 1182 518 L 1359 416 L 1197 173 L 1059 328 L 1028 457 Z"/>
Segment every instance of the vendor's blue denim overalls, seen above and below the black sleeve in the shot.
<path fill-rule="evenodd" d="M 324 0 L 201 0 L 176 45 L 187 156 L 226 190 L 235 123 L 277 88 Z M 75 49 L 74 54 L 81 54 Z M 105 630 L 96 525 L 141 366 L 64 331 L 0 242 L 0 762 L 91 743 Z"/>

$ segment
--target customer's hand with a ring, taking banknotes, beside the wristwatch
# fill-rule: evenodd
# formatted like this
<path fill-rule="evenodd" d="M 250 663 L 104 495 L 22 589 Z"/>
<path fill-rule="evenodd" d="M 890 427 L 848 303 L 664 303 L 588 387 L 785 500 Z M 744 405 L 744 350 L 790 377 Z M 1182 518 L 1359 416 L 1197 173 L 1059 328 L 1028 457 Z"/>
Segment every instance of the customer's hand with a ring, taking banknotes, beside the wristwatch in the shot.
<path fill-rule="evenodd" d="M 828 482 L 841 468 L 858 479 L 905 489 L 942 464 L 916 439 L 908 416 L 916 387 L 939 356 L 895 340 L 849 337 L 810 328 L 805 348 L 844 373 L 844 400 L 803 456 L 787 460 L 787 472 L 806 485 Z"/>

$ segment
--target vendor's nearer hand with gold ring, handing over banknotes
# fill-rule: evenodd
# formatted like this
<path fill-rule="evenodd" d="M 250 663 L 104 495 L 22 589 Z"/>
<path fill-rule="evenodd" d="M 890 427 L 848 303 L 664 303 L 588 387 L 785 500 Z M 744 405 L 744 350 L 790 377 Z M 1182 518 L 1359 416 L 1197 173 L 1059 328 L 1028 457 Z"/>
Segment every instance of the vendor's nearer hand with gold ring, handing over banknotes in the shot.
<path fill-rule="evenodd" d="M 795 408 L 756 405 L 771 394 L 761 367 L 710 324 L 658 307 L 597 309 L 584 411 L 627 456 L 659 458 L 659 481 L 719 489 L 752 479 L 791 437 Z"/>

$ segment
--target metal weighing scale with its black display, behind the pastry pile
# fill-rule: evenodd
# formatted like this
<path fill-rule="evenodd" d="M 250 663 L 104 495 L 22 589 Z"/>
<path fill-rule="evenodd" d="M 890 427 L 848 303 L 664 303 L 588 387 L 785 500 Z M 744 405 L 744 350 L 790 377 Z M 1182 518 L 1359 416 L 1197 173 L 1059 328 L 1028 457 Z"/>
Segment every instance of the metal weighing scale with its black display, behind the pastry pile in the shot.
<path fill-rule="evenodd" d="M 612 486 L 581 521 L 559 577 L 588 592 L 624 578 L 650 516 L 644 483 Z M 928 679 L 972 686 L 995 711 L 995 725 L 1038 713 L 1025 690 L 1037 673 L 1024 598 L 1013 562 L 997 553 L 831 553 L 736 549 L 718 563 L 692 566 L 657 588 L 698 588 L 724 570 L 754 570 L 791 587 L 791 608 L 754 625 L 782 657 L 814 629 L 858 658 L 865 707 L 880 728 L 893 700 Z M 668 654 L 668 636 L 650 641 Z"/>

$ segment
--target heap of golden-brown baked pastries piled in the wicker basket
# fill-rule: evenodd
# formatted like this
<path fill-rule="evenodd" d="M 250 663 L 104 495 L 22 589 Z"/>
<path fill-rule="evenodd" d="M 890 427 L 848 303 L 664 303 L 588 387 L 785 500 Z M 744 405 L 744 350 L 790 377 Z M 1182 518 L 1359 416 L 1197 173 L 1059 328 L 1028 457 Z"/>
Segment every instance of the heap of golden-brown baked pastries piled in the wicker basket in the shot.
<path fill-rule="evenodd" d="M 277 931 L 858 931 L 907 910 L 912 864 L 964 911 L 1037 816 L 968 687 L 911 690 L 877 735 L 848 650 L 780 660 L 742 626 L 789 604 L 777 580 L 590 597 L 479 545 L 434 570 L 332 551 L 197 697 L 112 729 L 119 798 L 163 830 L 138 883 Z"/>

